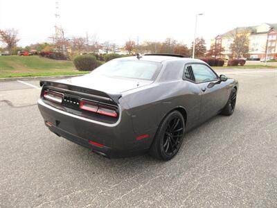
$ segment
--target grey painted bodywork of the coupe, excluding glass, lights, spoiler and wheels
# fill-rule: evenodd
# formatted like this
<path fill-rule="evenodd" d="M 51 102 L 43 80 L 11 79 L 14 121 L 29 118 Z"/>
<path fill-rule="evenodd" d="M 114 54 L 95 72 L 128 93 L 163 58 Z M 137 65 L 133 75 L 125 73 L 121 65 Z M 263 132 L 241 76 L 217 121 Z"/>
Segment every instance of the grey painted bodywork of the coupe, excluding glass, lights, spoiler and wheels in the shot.
<path fill-rule="evenodd" d="M 124 59 L 136 60 L 135 57 Z M 115 125 L 83 121 L 82 118 L 66 119 L 70 116 L 69 114 L 63 115 L 57 110 L 49 110 L 47 105 L 42 105 L 41 99 L 39 110 L 44 120 L 58 118 L 62 120 L 62 130 L 83 139 L 93 138 L 118 152 L 147 150 L 152 144 L 159 123 L 170 111 L 181 110 L 186 120 L 186 131 L 190 130 L 220 112 L 228 101 L 231 89 L 234 86 L 238 88 L 238 82 L 233 79 L 220 82 L 218 78 L 213 82 L 199 84 L 184 80 L 183 73 L 186 64 L 199 63 L 208 66 L 201 60 L 161 56 L 143 56 L 141 60 L 161 62 L 161 71 L 156 80 L 102 78 L 103 81 L 112 79 L 112 85 L 103 82 L 93 85 L 89 76 L 60 80 L 60 83 L 88 89 L 93 86 L 92 89 L 104 90 L 110 98 L 118 99 L 116 103 L 120 108 L 120 118 Z M 141 84 L 137 85 L 138 82 Z M 209 83 L 216 84 L 208 88 Z M 206 87 L 205 92 L 202 91 L 203 87 Z M 144 134 L 150 136 L 139 141 L 135 139 L 136 136 Z"/>

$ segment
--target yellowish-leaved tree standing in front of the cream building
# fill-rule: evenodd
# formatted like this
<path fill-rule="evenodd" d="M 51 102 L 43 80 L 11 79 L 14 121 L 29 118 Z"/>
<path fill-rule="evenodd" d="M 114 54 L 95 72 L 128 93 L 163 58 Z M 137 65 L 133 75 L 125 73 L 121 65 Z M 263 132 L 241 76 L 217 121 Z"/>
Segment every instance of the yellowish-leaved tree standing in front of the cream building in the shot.
<path fill-rule="evenodd" d="M 250 32 L 250 28 L 235 29 L 233 34 L 233 43 L 230 46 L 233 58 L 244 57 L 244 55 L 249 52 Z"/>

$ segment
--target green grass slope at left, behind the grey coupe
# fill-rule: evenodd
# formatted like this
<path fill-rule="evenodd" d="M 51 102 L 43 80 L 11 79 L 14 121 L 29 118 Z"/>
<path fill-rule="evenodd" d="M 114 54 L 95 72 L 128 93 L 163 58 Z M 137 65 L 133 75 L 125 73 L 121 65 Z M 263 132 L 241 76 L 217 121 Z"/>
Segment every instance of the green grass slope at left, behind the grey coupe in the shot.
<path fill-rule="evenodd" d="M 38 55 L 0 56 L 0 78 L 21 76 L 59 76 L 89 73 L 78 71 L 73 62 L 68 60 L 51 60 Z"/>

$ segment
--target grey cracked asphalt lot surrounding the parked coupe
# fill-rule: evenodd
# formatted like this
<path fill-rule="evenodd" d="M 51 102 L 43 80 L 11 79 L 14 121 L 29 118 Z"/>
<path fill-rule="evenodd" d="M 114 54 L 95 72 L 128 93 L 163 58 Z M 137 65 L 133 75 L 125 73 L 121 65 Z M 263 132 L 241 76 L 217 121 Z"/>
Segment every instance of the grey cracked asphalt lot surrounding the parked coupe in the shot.
<path fill-rule="evenodd" d="M 107 159 L 57 137 L 37 80 L 1 82 L 0 207 L 276 207 L 277 70 L 218 73 L 240 83 L 234 114 L 188 132 L 169 162 Z"/>

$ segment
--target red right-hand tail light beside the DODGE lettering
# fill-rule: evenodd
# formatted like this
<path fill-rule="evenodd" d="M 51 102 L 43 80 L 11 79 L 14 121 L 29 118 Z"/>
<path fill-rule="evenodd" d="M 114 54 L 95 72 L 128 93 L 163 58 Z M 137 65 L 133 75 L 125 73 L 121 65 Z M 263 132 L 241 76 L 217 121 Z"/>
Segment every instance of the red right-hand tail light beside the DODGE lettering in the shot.
<path fill-rule="evenodd" d="M 90 112 L 96 112 L 98 114 L 102 114 L 105 116 L 111 116 L 111 117 L 118 116 L 116 112 L 116 107 L 112 107 L 110 105 L 98 104 L 98 103 L 94 103 L 86 100 L 80 101 L 80 109 L 87 110 Z"/>

